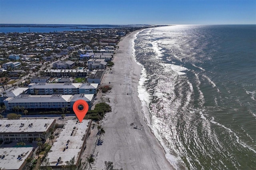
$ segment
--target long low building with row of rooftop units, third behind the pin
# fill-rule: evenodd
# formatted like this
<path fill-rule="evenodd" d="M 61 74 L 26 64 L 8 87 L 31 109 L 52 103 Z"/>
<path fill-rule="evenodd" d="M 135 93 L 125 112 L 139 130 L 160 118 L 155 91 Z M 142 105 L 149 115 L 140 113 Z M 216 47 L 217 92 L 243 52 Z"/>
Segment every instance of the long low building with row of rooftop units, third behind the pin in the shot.
<path fill-rule="evenodd" d="M 44 71 L 50 77 L 86 77 L 89 69 L 48 69 Z"/>

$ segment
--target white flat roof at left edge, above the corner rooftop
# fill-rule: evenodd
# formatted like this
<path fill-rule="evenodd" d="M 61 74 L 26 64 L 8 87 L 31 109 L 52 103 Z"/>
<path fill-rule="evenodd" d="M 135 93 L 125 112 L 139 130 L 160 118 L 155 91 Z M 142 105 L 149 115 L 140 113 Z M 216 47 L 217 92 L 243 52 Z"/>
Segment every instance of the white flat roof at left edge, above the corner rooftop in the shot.
<path fill-rule="evenodd" d="M 47 131 L 55 119 L 20 119 L 20 120 L 0 120 L 0 134 L 22 133 L 22 132 L 44 132 Z M 29 127 L 29 124 L 32 126 Z M 6 126 L 9 125 L 10 126 Z M 24 124 L 22 126 L 21 124 Z M 0 152 L 1 155 L 1 152 Z M 1 162 L 1 161 L 0 161 Z"/>

